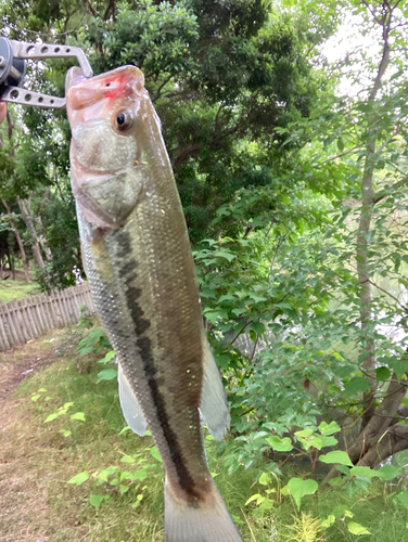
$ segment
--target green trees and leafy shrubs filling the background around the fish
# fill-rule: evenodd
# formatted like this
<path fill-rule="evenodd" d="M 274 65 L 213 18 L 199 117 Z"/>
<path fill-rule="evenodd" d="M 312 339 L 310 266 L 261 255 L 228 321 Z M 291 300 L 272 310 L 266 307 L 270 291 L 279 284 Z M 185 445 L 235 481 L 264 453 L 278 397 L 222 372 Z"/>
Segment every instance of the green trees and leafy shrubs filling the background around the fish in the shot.
<path fill-rule="evenodd" d="M 29 9 L 4 2 L 0 16 L 10 38 L 82 47 L 95 73 L 123 64 L 144 72 L 231 404 L 230 438 L 209 449 L 227 495 L 231 480 L 247 480 L 241 492 L 231 491 L 247 539 L 405 540 L 408 5 L 30 0 Z M 355 28 L 356 46 L 329 62 L 328 40 L 347 26 Z M 63 95 L 68 65 L 33 64 L 28 83 Z M 14 255 L 26 273 L 35 262 L 44 289 L 69 285 L 73 266 L 81 264 L 68 143 L 64 112 L 10 109 L 2 127 L 1 254 Z M 79 349 L 102 354 L 104 347 L 109 352 L 97 327 Z M 90 371 L 72 398 L 59 391 L 52 371 L 40 378 L 50 378 L 44 387 L 59 398 L 55 423 L 71 415 L 64 403 L 74 402 L 86 420 L 79 416 L 78 424 L 93 420 L 90 435 L 103 441 L 102 422 L 88 420 L 87 405 L 92 411 L 95 401 L 87 388 L 95 386 L 92 361 Z M 114 366 L 103 371 L 99 379 L 106 383 L 99 386 L 113 386 Z M 63 375 L 71 386 L 69 371 Z M 132 451 L 136 437 L 117 436 L 114 389 L 114 440 L 125 447 L 120 439 L 129 439 L 120 450 L 135 455 L 140 446 L 140 457 L 145 452 L 150 461 L 149 443 Z M 36 404 L 43 393 L 34 393 Z M 64 447 L 76 450 L 81 438 L 72 431 Z M 129 504 L 129 517 L 151 518 L 154 509 L 145 534 L 131 534 L 150 540 L 161 519 L 153 498 L 143 508 L 143 495 L 158 491 L 153 480 L 161 475 L 148 463 L 143 489 L 138 476 L 144 475 L 137 473 L 144 467 L 120 479 L 119 460 L 110 456 L 117 468 L 106 480 L 100 475 L 106 462 L 84 462 L 72 485 L 87 488 L 87 506 L 106 515 L 114 499 Z M 116 480 L 119 493 L 95 493 L 101 479 Z M 380 493 L 390 522 L 401 529 L 397 534 L 388 524 L 377 530 L 368 511 L 374 504 L 361 505 Z M 345 503 L 340 495 L 347 495 Z"/>

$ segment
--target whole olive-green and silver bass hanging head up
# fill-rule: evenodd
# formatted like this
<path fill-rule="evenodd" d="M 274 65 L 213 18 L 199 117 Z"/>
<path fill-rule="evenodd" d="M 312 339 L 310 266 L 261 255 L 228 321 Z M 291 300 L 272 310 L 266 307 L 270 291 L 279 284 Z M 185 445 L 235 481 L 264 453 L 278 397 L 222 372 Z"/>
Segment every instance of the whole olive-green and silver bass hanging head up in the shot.
<path fill-rule="evenodd" d="M 165 469 L 166 542 L 239 542 L 207 466 L 230 413 L 205 335 L 188 229 L 160 118 L 136 66 L 66 76 L 71 184 L 85 271 L 118 362 L 119 401 Z"/>

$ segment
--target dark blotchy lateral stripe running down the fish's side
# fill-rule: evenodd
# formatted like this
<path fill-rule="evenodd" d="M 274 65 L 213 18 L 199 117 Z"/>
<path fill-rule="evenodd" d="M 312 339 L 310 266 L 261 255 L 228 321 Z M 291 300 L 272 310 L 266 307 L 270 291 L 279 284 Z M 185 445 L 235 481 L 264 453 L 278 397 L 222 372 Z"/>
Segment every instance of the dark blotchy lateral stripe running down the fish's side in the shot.
<path fill-rule="evenodd" d="M 138 263 L 133 258 L 130 258 L 130 260 L 128 259 L 129 255 L 131 254 L 130 235 L 127 232 L 120 231 L 116 235 L 116 241 L 118 243 L 118 259 L 127 259 L 127 262 L 120 269 L 122 278 L 125 280 L 126 284 L 126 302 L 135 324 L 136 345 L 143 362 L 144 374 L 148 379 L 151 396 L 153 398 L 157 418 L 162 426 L 163 435 L 167 442 L 171 461 L 176 467 L 178 481 L 181 489 L 183 489 L 183 491 L 186 491 L 189 496 L 200 498 L 200 494 L 196 492 L 194 487 L 194 480 L 183 462 L 183 456 L 181 453 L 180 444 L 177 440 L 177 435 L 170 427 L 165 401 L 158 390 L 156 382 L 157 370 L 154 364 L 152 343 L 145 335 L 145 332 L 150 328 L 151 323 L 149 320 L 143 318 L 143 309 L 138 302 L 138 299 L 141 296 L 141 291 L 140 288 L 135 287 L 137 278 L 136 270 Z"/>

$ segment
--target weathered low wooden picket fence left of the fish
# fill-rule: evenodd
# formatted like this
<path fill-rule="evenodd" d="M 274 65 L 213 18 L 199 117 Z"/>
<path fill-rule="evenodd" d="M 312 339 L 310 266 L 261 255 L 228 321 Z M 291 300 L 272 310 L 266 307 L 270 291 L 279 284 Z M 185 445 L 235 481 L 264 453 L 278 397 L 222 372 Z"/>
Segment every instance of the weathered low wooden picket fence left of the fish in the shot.
<path fill-rule="evenodd" d="M 38 337 L 48 330 L 77 323 L 79 307 L 84 305 L 88 313 L 94 313 L 89 284 L 0 305 L 0 351 Z"/>

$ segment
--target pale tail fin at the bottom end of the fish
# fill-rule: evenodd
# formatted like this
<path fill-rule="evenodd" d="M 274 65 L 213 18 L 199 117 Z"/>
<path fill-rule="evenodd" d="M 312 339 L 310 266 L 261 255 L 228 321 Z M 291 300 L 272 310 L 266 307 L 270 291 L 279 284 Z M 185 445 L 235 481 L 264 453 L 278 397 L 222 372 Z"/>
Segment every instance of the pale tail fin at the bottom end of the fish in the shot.
<path fill-rule="evenodd" d="M 212 506 L 193 507 L 174 499 L 165 483 L 166 542 L 243 542 L 217 487 L 213 487 Z"/>

